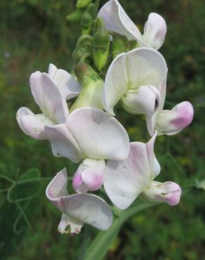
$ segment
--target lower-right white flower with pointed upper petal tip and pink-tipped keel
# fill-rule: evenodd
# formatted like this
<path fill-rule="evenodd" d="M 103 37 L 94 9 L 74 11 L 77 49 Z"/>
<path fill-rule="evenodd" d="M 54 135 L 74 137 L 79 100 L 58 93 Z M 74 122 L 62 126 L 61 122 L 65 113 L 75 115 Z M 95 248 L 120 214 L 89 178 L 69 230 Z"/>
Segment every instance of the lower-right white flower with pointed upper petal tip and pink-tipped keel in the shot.
<path fill-rule="evenodd" d="M 181 188 L 177 183 L 153 181 L 160 172 L 154 156 L 157 132 L 147 143 L 133 142 L 128 159 L 110 160 L 105 167 L 105 191 L 119 209 L 128 208 L 143 195 L 152 202 L 166 202 L 175 206 L 180 201 Z"/>

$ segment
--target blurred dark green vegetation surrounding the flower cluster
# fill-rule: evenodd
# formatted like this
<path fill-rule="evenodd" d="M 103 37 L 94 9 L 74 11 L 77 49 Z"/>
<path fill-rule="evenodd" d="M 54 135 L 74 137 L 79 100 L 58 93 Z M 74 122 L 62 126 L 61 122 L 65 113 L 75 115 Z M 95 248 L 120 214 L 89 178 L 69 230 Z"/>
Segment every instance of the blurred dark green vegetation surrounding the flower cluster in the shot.
<path fill-rule="evenodd" d="M 100 5 L 103 3 L 105 1 L 101 1 Z M 159 180 L 176 181 L 185 188 L 180 204 L 178 207 L 161 204 L 133 216 L 124 223 L 106 259 L 203 260 L 205 192 L 188 187 L 196 178 L 205 178 L 205 2 L 121 0 L 120 3 L 141 30 L 150 12 L 157 12 L 165 18 L 168 32 L 160 51 L 168 63 L 166 108 L 189 100 L 195 113 L 191 126 L 176 136 L 160 136 L 155 148 L 161 163 Z M 65 17 L 74 10 L 74 4 L 74 0 L 1 0 L 0 3 L 2 260 L 5 259 L 1 254 L 4 247 L 2 237 L 8 240 L 8 245 L 11 244 L 11 249 L 8 248 L 8 252 L 12 252 L 10 260 L 77 259 L 83 240 L 84 230 L 74 237 L 58 233 L 60 212 L 44 195 L 47 177 L 54 176 L 65 166 L 72 176 L 77 166 L 63 158 L 53 157 L 48 141 L 35 141 L 25 136 L 15 121 L 15 113 L 21 106 L 39 112 L 29 89 L 32 72 L 46 71 L 49 63 L 70 70 L 71 53 L 80 29 L 79 25 L 68 24 Z M 125 125 L 131 141 L 148 140 L 143 119 L 120 110 L 119 120 Z M 26 222 L 20 215 L 20 202 L 15 203 L 14 199 L 8 202 L 6 188 L 9 181 L 4 176 L 18 180 L 29 168 L 38 168 L 43 179 L 35 183 L 39 184 L 39 193 L 29 201 L 29 206 L 27 201 L 20 204 L 23 208 L 27 207 Z M 38 176 L 37 173 L 32 174 Z M 34 188 L 31 183 L 26 187 L 30 193 Z M 21 190 L 22 187 L 13 196 L 18 197 Z M 31 228 L 28 227 L 30 219 Z M 14 232 L 14 224 L 21 228 Z M 18 242 L 14 240 L 13 233 L 18 233 L 18 242 L 22 240 L 18 249 L 15 249 Z M 92 238 L 95 233 L 98 232 L 94 230 Z"/>

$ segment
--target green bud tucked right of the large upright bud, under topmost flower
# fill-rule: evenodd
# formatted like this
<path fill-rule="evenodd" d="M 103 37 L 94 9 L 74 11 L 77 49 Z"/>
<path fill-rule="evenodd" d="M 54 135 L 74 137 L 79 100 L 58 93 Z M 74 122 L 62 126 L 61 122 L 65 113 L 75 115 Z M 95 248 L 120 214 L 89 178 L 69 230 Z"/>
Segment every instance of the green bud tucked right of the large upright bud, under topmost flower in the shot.
<path fill-rule="evenodd" d="M 130 43 L 124 35 L 112 34 L 112 57 L 115 58 L 119 53 L 128 51 Z"/>

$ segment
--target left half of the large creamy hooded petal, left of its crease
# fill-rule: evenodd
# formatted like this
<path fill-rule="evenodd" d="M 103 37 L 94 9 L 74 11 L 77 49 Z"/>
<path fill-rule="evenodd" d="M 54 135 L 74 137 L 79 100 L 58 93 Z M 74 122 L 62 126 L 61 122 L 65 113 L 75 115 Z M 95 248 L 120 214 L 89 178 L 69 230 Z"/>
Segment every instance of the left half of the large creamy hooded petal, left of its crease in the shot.
<path fill-rule="evenodd" d="M 105 77 L 102 102 L 105 110 L 110 115 L 114 115 L 114 105 L 119 102 L 127 90 L 126 53 L 121 53 L 112 61 Z"/>

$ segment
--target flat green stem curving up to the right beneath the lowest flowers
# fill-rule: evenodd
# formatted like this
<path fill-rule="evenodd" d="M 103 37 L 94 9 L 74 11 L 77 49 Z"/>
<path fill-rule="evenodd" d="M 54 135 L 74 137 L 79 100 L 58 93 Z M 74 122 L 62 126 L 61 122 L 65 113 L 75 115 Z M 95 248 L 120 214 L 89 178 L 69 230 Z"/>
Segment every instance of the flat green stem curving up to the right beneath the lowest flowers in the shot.
<path fill-rule="evenodd" d="M 112 245 L 112 242 L 117 237 L 121 225 L 133 214 L 140 212 L 143 209 L 147 209 L 148 207 L 152 207 L 156 204 L 153 203 L 142 203 L 137 204 L 126 211 L 119 211 L 117 218 L 114 219 L 112 226 L 107 231 L 101 231 L 95 240 L 93 240 L 90 247 L 86 252 L 86 257 L 84 260 L 102 260 L 105 257 L 105 254 Z"/>

